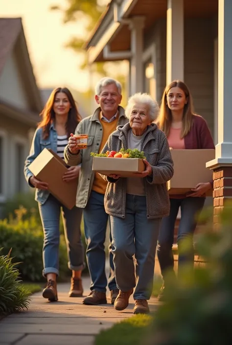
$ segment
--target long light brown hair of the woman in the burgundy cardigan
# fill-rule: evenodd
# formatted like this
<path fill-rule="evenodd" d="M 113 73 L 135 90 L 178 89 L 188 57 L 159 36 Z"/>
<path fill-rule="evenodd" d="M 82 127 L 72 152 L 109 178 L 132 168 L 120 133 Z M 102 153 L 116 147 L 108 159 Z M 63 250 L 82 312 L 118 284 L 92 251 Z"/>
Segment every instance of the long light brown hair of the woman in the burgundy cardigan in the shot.
<path fill-rule="evenodd" d="M 167 93 L 171 88 L 175 87 L 180 88 L 185 93 L 187 99 L 187 103 L 185 104 L 183 111 L 183 126 L 181 131 L 181 138 L 184 138 L 192 127 L 193 104 L 192 96 L 189 92 L 189 89 L 183 81 L 174 80 L 173 82 L 171 82 L 171 84 L 166 86 L 162 95 L 160 113 L 157 117 L 156 123 L 158 124 L 159 128 L 165 133 L 165 135 L 168 136 L 172 123 L 172 113 L 167 105 Z"/>

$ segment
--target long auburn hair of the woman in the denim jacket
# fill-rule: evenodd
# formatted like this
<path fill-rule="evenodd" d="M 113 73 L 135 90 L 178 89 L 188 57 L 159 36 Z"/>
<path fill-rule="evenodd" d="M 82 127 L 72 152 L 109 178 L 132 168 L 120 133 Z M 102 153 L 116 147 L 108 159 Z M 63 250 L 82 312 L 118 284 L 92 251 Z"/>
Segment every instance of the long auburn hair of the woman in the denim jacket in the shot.
<path fill-rule="evenodd" d="M 43 128 L 43 138 L 46 139 L 49 136 L 49 130 L 50 130 L 50 125 L 55 121 L 55 113 L 53 110 L 53 104 L 55 100 L 55 96 L 58 92 L 63 92 L 67 95 L 69 101 L 70 101 L 70 111 L 68 115 L 68 120 L 66 122 L 66 131 L 68 137 L 70 136 L 71 133 L 74 133 L 76 126 L 78 123 L 82 120 L 81 115 L 79 114 L 77 110 L 76 103 L 74 101 L 74 98 L 67 88 L 56 88 L 54 89 L 44 107 L 42 112 L 40 113 L 40 116 L 42 116 L 41 122 L 38 124 L 38 127 Z"/>

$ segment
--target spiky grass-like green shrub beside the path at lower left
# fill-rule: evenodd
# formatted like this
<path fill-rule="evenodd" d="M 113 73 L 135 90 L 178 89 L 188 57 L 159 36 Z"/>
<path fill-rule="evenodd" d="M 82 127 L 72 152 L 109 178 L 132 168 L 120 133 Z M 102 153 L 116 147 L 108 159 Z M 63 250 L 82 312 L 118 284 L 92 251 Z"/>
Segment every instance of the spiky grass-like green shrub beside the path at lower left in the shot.
<path fill-rule="evenodd" d="M 0 249 L 1 252 L 1 249 Z M 0 315 L 28 309 L 30 291 L 19 280 L 19 270 L 10 253 L 0 255 Z"/>

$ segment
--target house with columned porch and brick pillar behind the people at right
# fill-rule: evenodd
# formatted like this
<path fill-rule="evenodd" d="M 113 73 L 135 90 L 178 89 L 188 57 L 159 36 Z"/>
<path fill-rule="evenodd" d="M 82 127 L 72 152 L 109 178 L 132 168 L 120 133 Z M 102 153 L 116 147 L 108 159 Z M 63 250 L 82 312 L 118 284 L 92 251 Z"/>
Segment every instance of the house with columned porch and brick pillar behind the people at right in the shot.
<path fill-rule="evenodd" d="M 223 180 L 232 178 L 232 1 L 112 0 L 86 49 L 89 64 L 129 61 L 129 95 L 149 92 L 160 102 L 165 85 L 186 82 L 216 145 L 207 166 L 219 211 L 232 197 L 232 181 Z"/>

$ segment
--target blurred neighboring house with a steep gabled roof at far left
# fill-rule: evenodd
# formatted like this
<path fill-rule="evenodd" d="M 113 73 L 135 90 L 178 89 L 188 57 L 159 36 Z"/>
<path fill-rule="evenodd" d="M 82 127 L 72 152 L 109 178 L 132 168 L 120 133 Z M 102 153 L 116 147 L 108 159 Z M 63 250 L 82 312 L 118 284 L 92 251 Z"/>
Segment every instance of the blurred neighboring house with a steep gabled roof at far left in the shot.
<path fill-rule="evenodd" d="M 41 95 L 21 18 L 0 18 L 0 204 L 29 190 L 23 175 Z"/>

